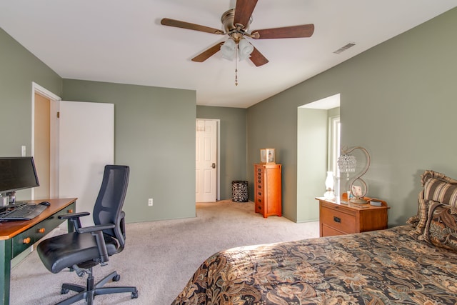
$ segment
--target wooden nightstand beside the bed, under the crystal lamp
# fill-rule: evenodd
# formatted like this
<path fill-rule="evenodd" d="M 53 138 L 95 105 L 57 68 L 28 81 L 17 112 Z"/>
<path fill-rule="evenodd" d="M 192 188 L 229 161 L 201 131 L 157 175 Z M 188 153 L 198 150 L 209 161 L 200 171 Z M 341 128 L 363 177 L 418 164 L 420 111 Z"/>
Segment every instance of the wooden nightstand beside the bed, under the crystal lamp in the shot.
<path fill-rule="evenodd" d="M 319 234 L 333 236 L 387 229 L 388 209 L 386 201 L 382 206 L 371 204 L 336 204 L 323 197 L 319 201 Z M 346 201 L 346 197 L 342 200 Z"/>

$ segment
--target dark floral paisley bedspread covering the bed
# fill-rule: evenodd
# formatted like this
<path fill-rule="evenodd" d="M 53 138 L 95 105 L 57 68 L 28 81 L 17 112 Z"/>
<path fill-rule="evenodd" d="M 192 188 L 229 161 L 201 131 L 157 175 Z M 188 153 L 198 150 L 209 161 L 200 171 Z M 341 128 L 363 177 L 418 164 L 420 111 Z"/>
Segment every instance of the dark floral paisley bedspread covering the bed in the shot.
<path fill-rule="evenodd" d="M 457 252 L 410 226 L 244 246 L 204 261 L 178 304 L 457 304 Z"/>

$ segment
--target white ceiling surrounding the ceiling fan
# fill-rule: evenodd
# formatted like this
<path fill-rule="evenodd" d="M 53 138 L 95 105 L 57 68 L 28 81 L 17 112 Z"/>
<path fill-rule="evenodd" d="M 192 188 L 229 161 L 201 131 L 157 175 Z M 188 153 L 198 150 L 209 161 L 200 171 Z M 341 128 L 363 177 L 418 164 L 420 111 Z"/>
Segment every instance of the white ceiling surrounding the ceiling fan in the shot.
<path fill-rule="evenodd" d="M 198 105 L 246 108 L 457 6 L 457 0 L 260 0 L 250 29 L 314 24 L 311 38 L 249 39 L 269 60 L 191 61 L 226 36 L 236 0 L 0 0 L 0 27 L 65 79 L 196 90 Z M 424 37 L 426 39 L 426 37 Z M 333 51 L 356 43 L 341 54 Z M 1 47 L 1 46 L 0 46 Z"/>

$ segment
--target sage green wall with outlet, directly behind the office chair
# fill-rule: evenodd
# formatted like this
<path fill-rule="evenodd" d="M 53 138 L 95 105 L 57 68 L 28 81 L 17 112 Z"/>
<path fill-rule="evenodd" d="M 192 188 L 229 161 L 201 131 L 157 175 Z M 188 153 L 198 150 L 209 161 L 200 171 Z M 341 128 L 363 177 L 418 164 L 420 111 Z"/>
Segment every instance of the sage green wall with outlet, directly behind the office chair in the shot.
<path fill-rule="evenodd" d="M 114 104 L 115 163 L 131 168 L 127 221 L 196 216 L 195 91 L 64 79 L 63 99 Z"/>

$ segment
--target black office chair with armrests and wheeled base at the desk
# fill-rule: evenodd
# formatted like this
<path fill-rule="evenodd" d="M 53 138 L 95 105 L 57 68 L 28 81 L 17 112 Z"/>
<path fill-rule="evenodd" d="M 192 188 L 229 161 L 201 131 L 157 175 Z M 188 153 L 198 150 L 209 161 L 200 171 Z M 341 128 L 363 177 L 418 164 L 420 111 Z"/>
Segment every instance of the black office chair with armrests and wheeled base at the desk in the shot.
<path fill-rule="evenodd" d="M 69 219 L 74 225 L 75 232 L 54 236 L 41 241 L 36 248 L 44 266 L 56 274 L 62 269 L 70 268 L 78 276 L 88 274 L 87 285 L 62 284 L 61 294 L 69 290 L 79 292 L 59 304 L 73 304 L 86 299 L 92 304 L 94 296 L 99 294 L 131 293 L 131 298 L 138 298 L 136 287 L 103 287 L 110 279 L 119 281 L 116 271 L 95 284 L 92 267 L 97 264 L 106 265 L 109 256 L 119 253 L 125 245 L 125 213 L 122 211 L 124 199 L 129 184 L 129 166 L 106 165 L 99 196 L 94 206 L 94 226 L 81 227 L 81 216 L 89 212 L 66 214 L 59 219 Z"/>

